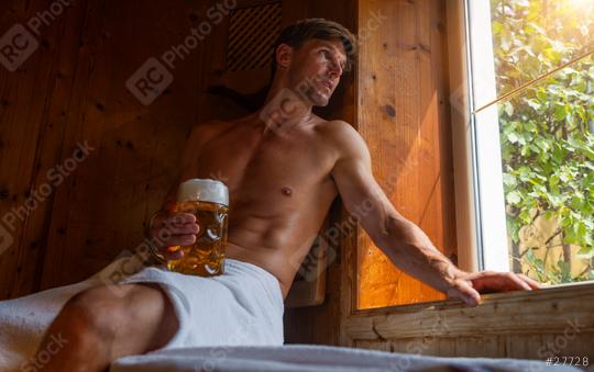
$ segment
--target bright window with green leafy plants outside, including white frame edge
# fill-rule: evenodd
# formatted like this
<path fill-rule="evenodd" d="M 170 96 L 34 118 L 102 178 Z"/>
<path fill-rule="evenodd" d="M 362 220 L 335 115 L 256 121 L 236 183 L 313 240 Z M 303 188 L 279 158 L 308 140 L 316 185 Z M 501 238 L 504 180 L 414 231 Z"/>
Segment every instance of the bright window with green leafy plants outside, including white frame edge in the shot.
<path fill-rule="evenodd" d="M 594 2 L 466 1 L 482 269 L 594 279 Z"/>

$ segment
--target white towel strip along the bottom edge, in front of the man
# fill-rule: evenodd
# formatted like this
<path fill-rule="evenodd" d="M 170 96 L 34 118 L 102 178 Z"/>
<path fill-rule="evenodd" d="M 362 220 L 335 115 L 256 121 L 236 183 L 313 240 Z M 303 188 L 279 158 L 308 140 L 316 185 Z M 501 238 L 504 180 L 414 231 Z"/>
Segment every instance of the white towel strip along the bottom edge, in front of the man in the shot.
<path fill-rule="evenodd" d="M 580 372 L 544 361 L 490 358 L 440 358 L 321 345 L 208 347 L 160 350 L 124 357 L 110 372 Z"/>

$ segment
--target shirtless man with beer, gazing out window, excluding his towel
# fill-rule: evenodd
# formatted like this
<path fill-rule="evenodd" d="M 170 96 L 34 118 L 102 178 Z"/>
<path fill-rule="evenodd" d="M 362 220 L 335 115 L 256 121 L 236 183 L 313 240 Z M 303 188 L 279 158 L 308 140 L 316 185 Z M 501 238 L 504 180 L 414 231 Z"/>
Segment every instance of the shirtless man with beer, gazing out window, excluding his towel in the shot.
<path fill-rule="evenodd" d="M 539 284 L 524 275 L 457 269 L 394 208 L 372 174 L 370 153 L 358 132 L 345 122 L 311 113 L 312 106 L 328 103 L 353 46 L 352 35 L 336 23 L 301 22 L 279 38 L 264 111 L 193 131 L 180 181 L 212 174 L 226 181 L 231 213 L 227 256 L 274 274 L 285 297 L 299 269 L 295 262 L 307 256 L 340 194 L 350 212 L 363 203 L 372 206 L 360 223 L 394 264 L 451 297 L 476 305 L 479 292 L 537 289 Z M 262 120 L 287 89 L 298 90 L 302 101 L 289 102 L 280 114 Z M 156 215 L 151 232 L 172 228 L 173 235 L 158 248 L 175 259 L 180 252 L 166 247 L 194 243 L 200 226 L 190 214 L 166 211 Z M 122 298 L 99 286 L 65 305 L 48 334 L 59 331 L 76 341 L 61 350 L 47 370 L 101 370 L 119 357 L 158 349 L 172 338 L 177 322 L 163 291 L 157 285 L 127 285 L 129 294 Z"/>

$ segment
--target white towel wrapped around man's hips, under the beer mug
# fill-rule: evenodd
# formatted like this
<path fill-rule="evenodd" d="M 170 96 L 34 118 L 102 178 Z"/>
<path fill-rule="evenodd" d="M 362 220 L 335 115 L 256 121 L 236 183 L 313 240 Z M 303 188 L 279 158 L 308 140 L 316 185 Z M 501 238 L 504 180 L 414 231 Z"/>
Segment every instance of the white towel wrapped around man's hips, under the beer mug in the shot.
<path fill-rule="evenodd" d="M 139 282 L 160 283 L 174 305 L 179 330 L 163 349 L 284 342 L 280 284 L 255 264 L 226 259 L 212 278 L 147 268 L 121 281 Z"/>

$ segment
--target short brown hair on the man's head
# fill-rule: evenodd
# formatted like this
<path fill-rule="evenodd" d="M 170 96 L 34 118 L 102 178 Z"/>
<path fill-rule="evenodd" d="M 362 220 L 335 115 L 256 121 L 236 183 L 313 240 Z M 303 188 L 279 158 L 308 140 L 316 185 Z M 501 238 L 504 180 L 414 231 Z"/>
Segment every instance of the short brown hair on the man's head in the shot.
<path fill-rule="evenodd" d="M 294 48 L 301 47 L 305 42 L 314 38 L 329 41 L 339 38 L 342 42 L 344 52 L 346 53 L 345 70 L 350 70 L 354 64 L 356 56 L 356 40 L 355 36 L 342 24 L 324 20 L 322 18 L 311 18 L 297 21 L 294 24 L 286 26 L 276 42 L 274 43 L 272 56 L 272 77 L 276 72 L 276 48 L 280 44 L 287 44 Z"/>

